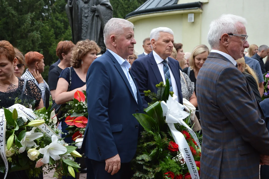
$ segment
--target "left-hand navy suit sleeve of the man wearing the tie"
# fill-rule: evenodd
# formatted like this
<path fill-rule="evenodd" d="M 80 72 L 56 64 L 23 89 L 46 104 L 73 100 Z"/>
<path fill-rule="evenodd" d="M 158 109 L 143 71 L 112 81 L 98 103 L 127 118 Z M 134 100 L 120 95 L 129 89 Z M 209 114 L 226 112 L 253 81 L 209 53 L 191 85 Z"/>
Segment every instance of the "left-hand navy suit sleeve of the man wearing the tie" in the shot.
<path fill-rule="evenodd" d="M 142 98 L 143 108 L 147 108 L 148 102 L 145 100 L 145 93 L 144 93 L 144 91 L 148 89 L 147 88 L 148 77 L 146 70 L 140 61 L 135 60 L 132 64 L 130 71 L 134 77 L 140 96 Z"/>

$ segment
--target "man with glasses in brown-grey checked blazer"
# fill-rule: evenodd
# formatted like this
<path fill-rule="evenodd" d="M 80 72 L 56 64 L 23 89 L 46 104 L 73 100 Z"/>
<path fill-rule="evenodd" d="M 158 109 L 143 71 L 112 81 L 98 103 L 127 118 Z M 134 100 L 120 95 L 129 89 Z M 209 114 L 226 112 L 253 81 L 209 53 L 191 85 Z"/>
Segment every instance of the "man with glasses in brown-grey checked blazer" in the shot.
<path fill-rule="evenodd" d="M 268 164 L 263 113 L 236 68 L 235 60 L 249 47 L 245 24 L 235 15 L 222 15 L 210 24 L 212 50 L 196 82 L 203 131 L 201 179 L 259 179 L 259 163 Z"/>

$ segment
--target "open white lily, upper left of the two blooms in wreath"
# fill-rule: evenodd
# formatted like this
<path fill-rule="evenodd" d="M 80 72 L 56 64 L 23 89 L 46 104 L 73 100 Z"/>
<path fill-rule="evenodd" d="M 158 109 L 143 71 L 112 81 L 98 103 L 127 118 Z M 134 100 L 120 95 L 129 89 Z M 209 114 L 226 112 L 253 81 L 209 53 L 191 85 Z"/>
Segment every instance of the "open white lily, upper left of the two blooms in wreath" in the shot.
<path fill-rule="evenodd" d="M 20 141 L 20 143 L 22 144 L 22 147 L 19 148 L 20 153 L 24 152 L 26 147 L 39 147 L 39 145 L 36 145 L 34 140 L 42 137 L 43 134 L 41 132 L 34 132 L 35 129 L 36 127 L 33 127 L 31 131 L 25 133 L 24 138 L 22 139 L 22 141 Z"/>

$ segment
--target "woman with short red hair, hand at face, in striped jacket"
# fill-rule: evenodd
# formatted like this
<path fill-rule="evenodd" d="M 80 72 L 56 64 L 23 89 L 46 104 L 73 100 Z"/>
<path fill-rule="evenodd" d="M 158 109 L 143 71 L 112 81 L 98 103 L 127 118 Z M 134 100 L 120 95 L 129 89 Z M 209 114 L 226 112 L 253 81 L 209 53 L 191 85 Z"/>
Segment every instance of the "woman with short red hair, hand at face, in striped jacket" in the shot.
<path fill-rule="evenodd" d="M 44 72 L 44 56 L 38 52 L 28 52 L 24 55 L 28 69 L 22 75 L 23 79 L 32 80 L 42 92 L 42 100 L 46 109 L 49 107 L 49 86 L 43 79 L 41 73 Z"/>

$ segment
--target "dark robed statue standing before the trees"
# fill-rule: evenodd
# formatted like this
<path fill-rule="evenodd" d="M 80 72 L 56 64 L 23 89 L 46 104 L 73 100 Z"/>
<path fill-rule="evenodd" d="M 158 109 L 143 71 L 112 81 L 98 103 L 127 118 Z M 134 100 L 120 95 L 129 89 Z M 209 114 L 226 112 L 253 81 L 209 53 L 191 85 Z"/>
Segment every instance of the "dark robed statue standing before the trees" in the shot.
<path fill-rule="evenodd" d="M 65 10 L 74 44 L 79 40 L 94 40 L 104 53 L 103 29 L 105 23 L 113 17 L 109 0 L 68 0 Z"/>

